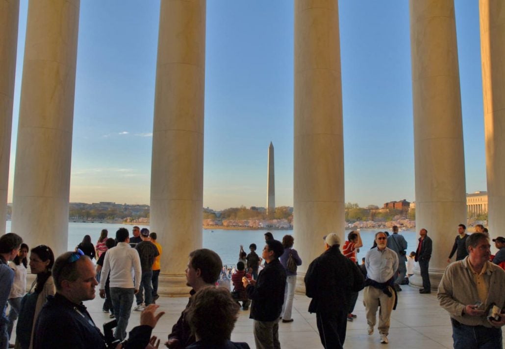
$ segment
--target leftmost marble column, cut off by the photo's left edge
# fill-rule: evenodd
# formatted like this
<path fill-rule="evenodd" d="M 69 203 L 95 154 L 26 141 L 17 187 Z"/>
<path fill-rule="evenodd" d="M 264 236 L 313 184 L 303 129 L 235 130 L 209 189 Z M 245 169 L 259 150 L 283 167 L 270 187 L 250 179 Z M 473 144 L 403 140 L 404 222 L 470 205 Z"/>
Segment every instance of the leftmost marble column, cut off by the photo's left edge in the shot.
<path fill-rule="evenodd" d="M 0 235 L 5 234 L 19 0 L 0 0 Z"/>

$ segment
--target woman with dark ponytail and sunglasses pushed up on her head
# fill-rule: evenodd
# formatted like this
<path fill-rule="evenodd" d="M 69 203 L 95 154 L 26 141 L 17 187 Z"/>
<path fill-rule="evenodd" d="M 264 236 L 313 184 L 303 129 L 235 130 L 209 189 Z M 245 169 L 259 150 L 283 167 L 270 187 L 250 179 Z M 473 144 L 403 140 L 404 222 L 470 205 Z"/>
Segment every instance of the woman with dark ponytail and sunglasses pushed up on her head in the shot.
<path fill-rule="evenodd" d="M 16 348 L 32 349 L 33 329 L 38 313 L 47 296 L 55 295 L 55 281 L 51 268 L 55 264 L 55 255 L 51 248 L 39 245 L 30 252 L 30 271 L 36 274 L 30 291 L 21 300 L 18 324 L 16 325 Z"/>

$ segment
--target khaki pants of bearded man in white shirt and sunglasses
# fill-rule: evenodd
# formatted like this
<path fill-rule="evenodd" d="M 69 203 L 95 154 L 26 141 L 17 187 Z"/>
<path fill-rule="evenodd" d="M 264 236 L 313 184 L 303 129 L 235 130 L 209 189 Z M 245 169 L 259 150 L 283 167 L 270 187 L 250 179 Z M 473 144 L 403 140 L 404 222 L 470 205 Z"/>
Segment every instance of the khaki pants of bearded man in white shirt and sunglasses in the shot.
<path fill-rule="evenodd" d="M 387 295 L 382 292 L 381 289 L 367 286 L 363 290 L 363 305 L 366 308 L 367 323 L 368 326 L 374 327 L 376 322 L 377 308 L 379 310 L 379 329 L 380 334 L 388 335 L 389 333 L 389 320 L 391 318 L 391 311 L 393 310 L 394 297 L 395 294 L 391 287 L 389 290 L 393 294 L 392 297 L 387 297 Z"/>

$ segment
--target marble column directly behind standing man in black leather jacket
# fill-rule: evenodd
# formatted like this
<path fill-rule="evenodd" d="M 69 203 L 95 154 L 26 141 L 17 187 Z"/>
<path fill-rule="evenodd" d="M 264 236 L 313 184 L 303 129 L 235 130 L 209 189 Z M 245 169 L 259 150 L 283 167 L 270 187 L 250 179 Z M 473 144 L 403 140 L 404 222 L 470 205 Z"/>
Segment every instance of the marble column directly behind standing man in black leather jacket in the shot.
<path fill-rule="evenodd" d="M 410 0 L 416 229 L 433 240 L 437 287 L 466 223 L 465 158 L 453 0 Z M 419 269 L 412 283 L 422 286 Z"/>

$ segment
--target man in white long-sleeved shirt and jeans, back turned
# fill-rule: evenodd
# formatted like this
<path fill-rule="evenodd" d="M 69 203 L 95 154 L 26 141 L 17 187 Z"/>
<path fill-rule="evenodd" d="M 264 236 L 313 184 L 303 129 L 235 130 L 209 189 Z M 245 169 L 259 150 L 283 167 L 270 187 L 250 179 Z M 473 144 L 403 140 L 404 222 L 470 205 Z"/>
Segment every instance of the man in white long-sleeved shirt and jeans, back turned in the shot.
<path fill-rule="evenodd" d="M 133 297 L 138 292 L 142 275 L 138 252 L 128 244 L 129 235 L 126 228 L 116 231 L 118 244 L 107 251 L 102 267 L 104 277 L 100 279 L 100 297 L 105 298 L 105 283 L 109 274 L 112 306 L 118 320 L 114 336 L 121 341 L 126 337 Z M 132 277 L 132 270 L 135 279 Z"/>

